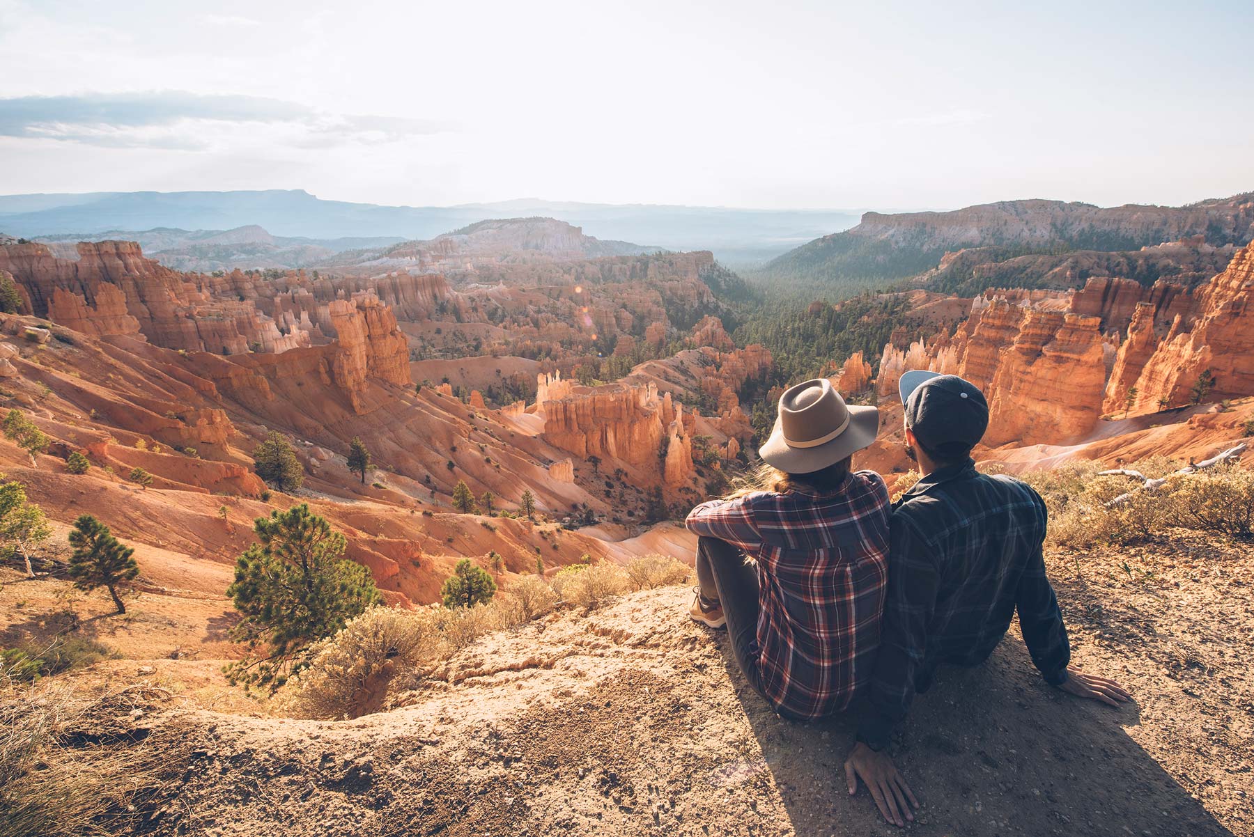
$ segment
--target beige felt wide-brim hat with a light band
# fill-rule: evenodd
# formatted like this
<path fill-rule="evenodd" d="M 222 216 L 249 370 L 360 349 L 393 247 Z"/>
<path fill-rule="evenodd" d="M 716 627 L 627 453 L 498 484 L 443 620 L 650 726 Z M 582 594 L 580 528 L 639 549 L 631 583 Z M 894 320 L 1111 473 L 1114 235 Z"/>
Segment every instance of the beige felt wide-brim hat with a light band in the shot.
<path fill-rule="evenodd" d="M 835 465 L 875 441 L 879 410 L 846 405 L 828 378 L 803 381 L 780 396 L 779 416 L 757 455 L 788 474 Z"/>

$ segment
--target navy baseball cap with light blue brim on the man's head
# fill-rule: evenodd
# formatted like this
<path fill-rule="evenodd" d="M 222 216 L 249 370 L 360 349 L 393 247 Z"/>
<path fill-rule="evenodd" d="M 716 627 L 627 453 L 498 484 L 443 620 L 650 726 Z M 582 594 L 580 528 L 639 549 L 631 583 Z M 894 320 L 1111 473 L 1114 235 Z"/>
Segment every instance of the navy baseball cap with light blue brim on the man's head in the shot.
<path fill-rule="evenodd" d="M 905 426 L 929 454 L 963 456 L 988 430 L 988 401 L 971 381 L 957 375 L 910 370 L 898 388 L 905 405 Z"/>

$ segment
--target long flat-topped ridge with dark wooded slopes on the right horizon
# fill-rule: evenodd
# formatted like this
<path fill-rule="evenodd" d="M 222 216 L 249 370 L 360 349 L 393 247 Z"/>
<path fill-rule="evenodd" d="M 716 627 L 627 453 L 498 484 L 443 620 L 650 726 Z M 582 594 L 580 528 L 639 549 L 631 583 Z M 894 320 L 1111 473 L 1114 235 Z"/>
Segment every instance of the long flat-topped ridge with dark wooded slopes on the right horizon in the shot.
<path fill-rule="evenodd" d="M 1188 256 L 1195 264 L 1178 268 L 1172 263 L 1178 254 L 1139 257 L 1136 252 L 1162 242 L 1183 242 L 1183 249 L 1231 248 L 1251 238 L 1254 193 L 1185 207 L 1006 200 L 953 212 L 868 212 L 856 227 L 772 259 L 764 273 L 782 281 L 839 286 L 848 293 L 937 268 L 928 274 L 934 282 L 930 287 L 968 293 L 997 283 L 1073 287 L 1092 273 L 1127 276 L 1129 268 L 1147 283 L 1176 272 L 1196 282 L 1221 269 L 1216 259 Z M 953 253 L 958 253 L 957 261 L 952 256 L 948 263 L 943 261 Z M 1120 253 L 1122 259 L 1105 253 Z M 1230 258 L 1231 249 L 1226 256 Z M 1007 269 L 997 267 L 1002 263 Z M 982 282 L 987 283 L 979 287 Z"/>

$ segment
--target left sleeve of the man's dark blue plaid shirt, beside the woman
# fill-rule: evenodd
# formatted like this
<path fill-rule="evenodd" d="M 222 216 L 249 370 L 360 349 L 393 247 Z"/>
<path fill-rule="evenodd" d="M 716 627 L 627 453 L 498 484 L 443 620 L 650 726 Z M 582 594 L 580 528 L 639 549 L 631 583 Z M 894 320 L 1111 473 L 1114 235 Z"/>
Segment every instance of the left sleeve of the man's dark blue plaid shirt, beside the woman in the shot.
<path fill-rule="evenodd" d="M 914 700 L 940 578 L 933 550 L 900 512 L 889 522 L 888 554 L 879 654 L 858 724 L 858 741 L 873 749 L 888 746 Z"/>

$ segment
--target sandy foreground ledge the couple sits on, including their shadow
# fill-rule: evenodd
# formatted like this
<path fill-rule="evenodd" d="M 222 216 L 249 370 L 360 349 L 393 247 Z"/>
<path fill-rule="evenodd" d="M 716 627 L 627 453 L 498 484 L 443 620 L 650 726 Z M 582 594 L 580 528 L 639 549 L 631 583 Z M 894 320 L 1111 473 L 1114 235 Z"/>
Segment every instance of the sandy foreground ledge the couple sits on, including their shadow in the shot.
<path fill-rule="evenodd" d="M 1051 689 L 1012 629 L 987 664 L 946 669 L 918 698 L 894 744 L 923 803 L 905 831 L 1254 834 L 1249 554 L 1190 533 L 1051 553 L 1076 664 L 1134 703 Z M 56 584 L 10 575 L 0 604 L 8 615 L 21 600 L 35 624 L 35 593 Z M 399 708 L 351 722 L 266 717 L 216 685 L 212 634 L 188 637 L 203 652 L 177 660 L 155 644 L 144 659 L 135 642 L 74 675 L 133 688 L 71 741 L 130 741 L 154 764 L 129 833 L 893 833 L 864 789 L 844 788 L 850 722 L 771 713 L 725 634 L 687 619 L 688 596 L 642 591 L 488 635 Z M 169 637 L 181 619 L 186 604 L 144 595 L 124 620 L 87 623 Z"/>

